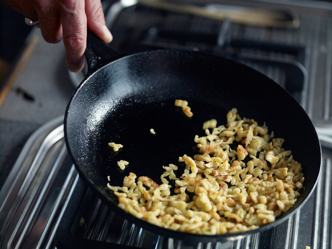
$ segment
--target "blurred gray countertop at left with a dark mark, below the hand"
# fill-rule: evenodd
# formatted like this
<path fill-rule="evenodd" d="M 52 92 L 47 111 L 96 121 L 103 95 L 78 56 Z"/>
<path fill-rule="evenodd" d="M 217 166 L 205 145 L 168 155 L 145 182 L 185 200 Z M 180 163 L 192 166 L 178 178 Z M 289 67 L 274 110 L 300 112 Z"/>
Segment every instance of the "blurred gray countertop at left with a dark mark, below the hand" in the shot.
<path fill-rule="evenodd" d="M 45 122 L 64 115 L 75 90 L 68 76 L 63 43 L 45 42 L 38 28 L 32 30 L 26 43 L 36 38 L 35 50 L 0 107 L 0 188 L 27 138 Z"/>

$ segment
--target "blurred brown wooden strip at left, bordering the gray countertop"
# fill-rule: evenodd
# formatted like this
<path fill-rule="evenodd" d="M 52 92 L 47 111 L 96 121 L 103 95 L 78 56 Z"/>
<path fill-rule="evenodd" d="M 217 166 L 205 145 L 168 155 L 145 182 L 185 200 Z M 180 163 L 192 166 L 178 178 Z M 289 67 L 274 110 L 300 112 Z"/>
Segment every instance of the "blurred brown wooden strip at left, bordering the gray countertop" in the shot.
<path fill-rule="evenodd" d="M 0 92 L 0 107 L 2 106 L 7 95 L 9 94 L 10 90 L 12 89 L 15 80 L 17 79 L 17 77 L 20 75 L 23 68 L 27 64 L 27 62 L 28 62 L 30 56 L 32 55 L 32 53 L 34 52 L 38 42 L 39 42 L 39 37 L 37 35 L 33 36 L 31 38 L 31 40 L 29 41 L 29 44 L 27 45 L 27 47 L 22 52 L 20 59 L 16 63 L 13 71 L 9 75 L 8 79 L 6 80 L 2 90 Z"/>

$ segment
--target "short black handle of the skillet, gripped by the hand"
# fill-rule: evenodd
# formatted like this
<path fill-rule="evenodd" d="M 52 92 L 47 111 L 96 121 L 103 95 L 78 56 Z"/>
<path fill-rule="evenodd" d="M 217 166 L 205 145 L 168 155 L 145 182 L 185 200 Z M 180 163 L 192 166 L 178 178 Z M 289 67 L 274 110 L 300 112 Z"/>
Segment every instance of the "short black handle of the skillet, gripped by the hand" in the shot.
<path fill-rule="evenodd" d="M 88 29 L 84 55 L 88 64 L 87 75 L 91 75 L 102 66 L 124 57 L 128 53 L 115 50 Z"/>

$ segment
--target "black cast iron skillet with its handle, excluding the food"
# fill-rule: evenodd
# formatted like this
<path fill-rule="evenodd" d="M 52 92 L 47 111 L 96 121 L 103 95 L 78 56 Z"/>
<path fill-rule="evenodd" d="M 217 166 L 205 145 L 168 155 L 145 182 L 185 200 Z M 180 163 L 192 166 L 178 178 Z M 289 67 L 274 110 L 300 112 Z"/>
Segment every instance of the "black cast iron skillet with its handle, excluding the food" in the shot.
<path fill-rule="evenodd" d="M 124 218 L 185 241 L 234 240 L 282 223 L 313 192 L 321 164 L 315 128 L 300 104 L 270 78 L 232 60 L 194 51 L 122 54 L 91 33 L 85 55 L 89 71 L 68 103 L 65 140 L 80 176 Z M 175 99 L 187 100 L 194 116 L 184 116 L 174 107 Z M 301 162 L 305 189 L 287 213 L 253 231 L 197 235 L 152 225 L 117 207 L 117 197 L 106 187 L 107 176 L 113 186 L 122 186 L 129 172 L 160 184 L 163 165 L 178 165 L 179 156 L 194 155 L 194 136 L 204 135 L 203 122 L 215 118 L 224 124 L 233 107 L 241 117 L 266 122 L 269 132 L 284 138 L 284 148 Z M 123 144 L 119 153 L 108 145 L 111 141 Z M 119 160 L 129 162 L 124 171 L 117 166 Z"/>

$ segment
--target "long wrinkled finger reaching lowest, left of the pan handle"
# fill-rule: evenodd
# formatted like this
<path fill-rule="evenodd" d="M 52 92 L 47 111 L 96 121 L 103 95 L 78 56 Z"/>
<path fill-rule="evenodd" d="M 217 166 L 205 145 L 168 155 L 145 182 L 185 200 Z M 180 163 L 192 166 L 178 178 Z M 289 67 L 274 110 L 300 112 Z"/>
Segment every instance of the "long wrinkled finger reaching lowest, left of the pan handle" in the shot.
<path fill-rule="evenodd" d="M 70 71 L 78 72 L 85 62 L 87 28 L 84 1 L 61 0 L 59 8 L 66 62 Z"/>

